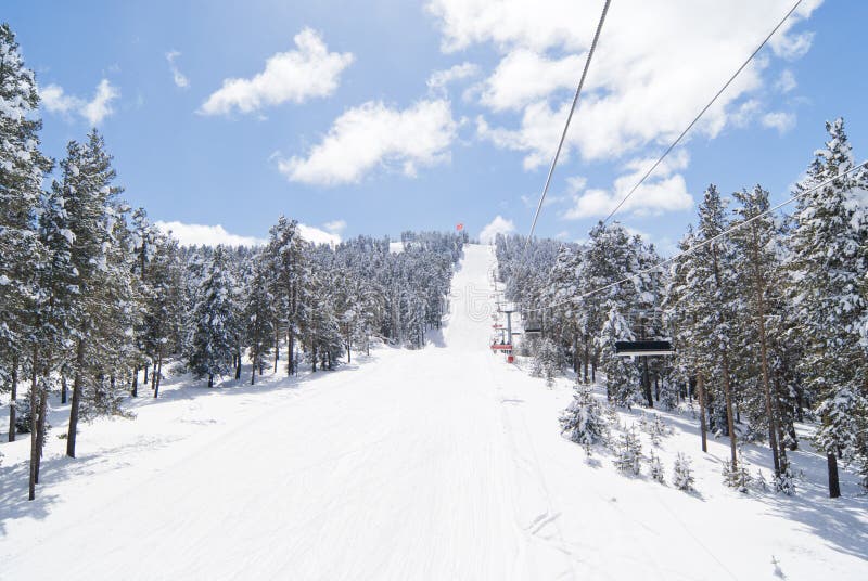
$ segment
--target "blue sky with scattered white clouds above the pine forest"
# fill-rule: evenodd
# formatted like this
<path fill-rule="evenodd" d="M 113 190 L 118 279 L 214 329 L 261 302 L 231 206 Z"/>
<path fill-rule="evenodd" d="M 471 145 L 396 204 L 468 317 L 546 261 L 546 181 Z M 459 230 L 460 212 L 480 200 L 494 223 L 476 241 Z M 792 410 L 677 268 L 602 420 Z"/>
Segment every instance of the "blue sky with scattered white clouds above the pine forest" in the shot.
<path fill-rule="evenodd" d="M 537 233 L 583 238 L 792 3 L 613 0 Z M 397 237 L 498 216 L 488 232 L 527 232 L 601 7 L 8 0 L 2 18 L 46 153 L 95 124 L 153 220 L 261 238 L 283 212 Z M 804 0 L 618 219 L 667 251 L 710 182 L 782 199 L 839 115 L 868 156 L 866 17 Z"/>

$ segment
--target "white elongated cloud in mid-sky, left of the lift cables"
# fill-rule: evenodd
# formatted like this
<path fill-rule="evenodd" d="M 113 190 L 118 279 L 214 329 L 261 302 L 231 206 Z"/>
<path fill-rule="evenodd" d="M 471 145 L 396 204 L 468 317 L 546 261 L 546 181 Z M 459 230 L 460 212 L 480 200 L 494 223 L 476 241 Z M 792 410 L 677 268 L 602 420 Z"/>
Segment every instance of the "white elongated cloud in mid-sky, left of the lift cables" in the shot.
<path fill-rule="evenodd" d="M 306 156 L 278 159 L 291 181 L 337 185 L 360 181 L 378 166 L 416 176 L 418 166 L 449 159 L 457 131 L 448 101 L 419 101 L 406 109 L 368 102 L 347 109 Z"/>

